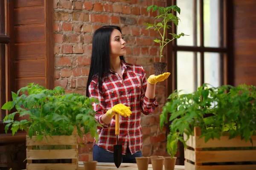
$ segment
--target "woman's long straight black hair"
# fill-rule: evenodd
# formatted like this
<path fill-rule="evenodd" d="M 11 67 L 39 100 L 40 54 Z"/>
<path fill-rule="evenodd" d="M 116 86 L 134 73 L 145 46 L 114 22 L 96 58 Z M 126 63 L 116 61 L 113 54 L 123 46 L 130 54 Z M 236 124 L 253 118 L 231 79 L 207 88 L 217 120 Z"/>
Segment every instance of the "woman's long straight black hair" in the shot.
<path fill-rule="evenodd" d="M 100 91 L 102 89 L 104 74 L 110 69 L 110 36 L 114 29 L 121 32 L 121 29 L 118 26 L 102 26 L 93 34 L 91 65 L 86 86 L 86 96 L 89 96 L 88 87 L 93 76 L 96 74 L 98 74 L 98 89 Z M 119 57 L 121 60 L 125 61 L 123 56 Z"/>

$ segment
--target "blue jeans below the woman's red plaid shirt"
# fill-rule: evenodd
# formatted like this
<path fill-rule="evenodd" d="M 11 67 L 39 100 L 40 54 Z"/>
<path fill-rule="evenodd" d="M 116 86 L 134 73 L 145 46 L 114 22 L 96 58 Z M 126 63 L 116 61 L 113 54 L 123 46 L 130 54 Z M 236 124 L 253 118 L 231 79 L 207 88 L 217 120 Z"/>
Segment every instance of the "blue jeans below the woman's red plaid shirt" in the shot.
<path fill-rule="evenodd" d="M 135 163 L 136 164 L 136 157 L 141 157 L 142 153 L 141 150 L 131 154 L 130 150 L 127 147 L 126 154 L 122 155 L 122 163 Z M 102 147 L 97 146 L 94 144 L 93 146 L 93 161 L 98 162 L 114 162 L 114 154 L 112 152 L 108 152 L 107 150 L 103 149 Z"/>

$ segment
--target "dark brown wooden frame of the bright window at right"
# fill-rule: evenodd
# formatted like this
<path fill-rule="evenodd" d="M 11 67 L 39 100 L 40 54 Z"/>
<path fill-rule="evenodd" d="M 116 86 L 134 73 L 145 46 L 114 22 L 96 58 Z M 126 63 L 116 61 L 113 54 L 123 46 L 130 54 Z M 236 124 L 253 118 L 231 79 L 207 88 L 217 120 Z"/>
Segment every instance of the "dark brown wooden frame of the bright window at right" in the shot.
<path fill-rule="evenodd" d="M 176 0 L 167 0 L 166 5 L 172 6 L 177 4 Z M 212 47 L 204 47 L 204 0 L 199 0 L 199 15 L 200 15 L 200 46 L 180 46 L 177 45 L 177 40 L 173 40 L 172 43 L 166 45 L 166 62 L 167 62 L 167 71 L 171 73 L 170 78 L 166 81 L 166 94 L 169 96 L 175 90 L 177 90 L 177 51 L 190 51 L 194 52 L 194 65 L 197 68 L 197 53 L 200 53 L 200 84 L 204 83 L 204 52 L 217 52 L 220 54 L 221 62 L 220 62 L 220 77 L 221 85 L 233 85 L 233 32 L 232 32 L 232 18 L 233 18 L 233 2 L 230 0 L 219 0 L 219 9 L 223 9 L 219 11 L 220 14 L 220 23 L 219 29 L 223 30 L 220 31 L 220 36 L 223 37 L 220 41 L 220 46 L 218 48 Z M 197 0 L 193 1 L 193 33 L 194 33 L 194 44 L 197 42 Z M 173 11 L 173 14 L 176 15 L 176 12 Z M 176 26 L 172 23 L 172 30 L 168 30 L 166 32 L 166 37 L 170 40 L 172 39 L 170 32 L 176 33 Z M 195 69 L 197 70 L 197 69 Z M 195 71 L 197 77 L 197 71 Z M 195 80 L 197 80 L 194 77 Z M 195 81 L 195 87 L 197 87 L 197 81 Z M 168 115 L 168 119 L 169 119 Z M 166 124 L 166 127 L 169 127 L 171 122 Z M 167 133 L 169 132 L 169 128 L 167 128 Z M 184 164 L 184 147 L 183 144 L 179 142 L 180 151 L 180 159 L 179 164 Z"/>

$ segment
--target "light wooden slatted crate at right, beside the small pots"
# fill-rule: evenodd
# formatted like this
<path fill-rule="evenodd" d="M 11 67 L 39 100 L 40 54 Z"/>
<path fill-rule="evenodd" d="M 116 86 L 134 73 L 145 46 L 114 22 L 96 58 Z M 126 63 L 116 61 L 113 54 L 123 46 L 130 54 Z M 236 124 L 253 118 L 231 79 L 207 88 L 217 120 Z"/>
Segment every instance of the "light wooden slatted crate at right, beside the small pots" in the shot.
<path fill-rule="evenodd" d="M 250 141 L 245 142 L 241 137 L 229 139 L 229 136 L 221 136 L 220 140 L 210 139 L 204 142 L 201 128 L 194 128 L 195 136 L 190 136 L 186 142 L 187 149 L 184 150 L 185 170 L 256 170 L 256 164 L 233 164 L 224 165 L 224 162 L 251 162 L 256 161 L 256 150 L 220 150 L 224 147 L 252 147 Z M 186 134 L 183 135 L 186 141 Z M 253 145 L 256 144 L 256 136 L 252 136 Z M 205 150 L 208 148 L 208 150 Z M 211 148 L 211 150 L 209 150 Z M 218 148 L 218 150 L 214 150 Z M 194 164 L 193 164 L 194 163 Z M 216 165 L 206 165 L 216 163 Z"/>

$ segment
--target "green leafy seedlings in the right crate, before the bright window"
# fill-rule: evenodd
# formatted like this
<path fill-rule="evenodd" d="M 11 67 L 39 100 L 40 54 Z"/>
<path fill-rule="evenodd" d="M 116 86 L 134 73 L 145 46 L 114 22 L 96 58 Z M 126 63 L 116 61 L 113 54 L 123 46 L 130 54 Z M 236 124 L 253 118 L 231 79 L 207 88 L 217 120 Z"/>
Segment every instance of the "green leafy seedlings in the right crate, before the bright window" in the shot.
<path fill-rule="evenodd" d="M 168 97 L 160 114 L 160 128 L 167 122 L 170 133 L 167 137 L 167 150 L 172 156 L 177 152 L 177 142 L 183 140 L 183 133 L 194 135 L 194 127 L 201 127 L 205 142 L 220 139 L 224 132 L 230 139 L 241 136 L 252 143 L 250 136 L 256 135 L 256 87 L 239 85 L 233 87 L 209 87 L 204 84 L 191 94 L 179 95 L 175 91 Z M 206 117 L 211 114 L 211 116 Z M 169 116 L 169 120 L 168 120 Z"/>

